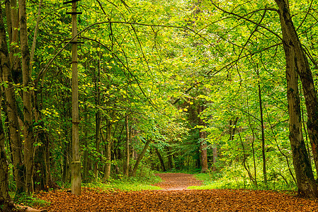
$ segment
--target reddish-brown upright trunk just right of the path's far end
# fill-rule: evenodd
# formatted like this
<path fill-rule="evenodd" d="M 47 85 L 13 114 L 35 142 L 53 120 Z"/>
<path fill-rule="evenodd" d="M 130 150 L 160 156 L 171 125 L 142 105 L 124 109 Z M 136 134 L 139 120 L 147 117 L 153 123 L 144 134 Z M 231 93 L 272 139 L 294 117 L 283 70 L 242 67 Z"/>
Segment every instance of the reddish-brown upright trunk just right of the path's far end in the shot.
<path fill-rule="evenodd" d="M 198 115 L 200 115 L 201 112 L 203 112 L 204 106 L 198 106 Z M 198 117 L 198 125 L 199 126 L 205 126 L 205 123 L 203 122 L 203 119 Z M 207 132 L 204 131 L 204 129 L 200 129 L 199 132 L 200 137 L 200 165 L 201 165 L 201 173 L 208 172 L 208 145 L 207 145 Z"/>

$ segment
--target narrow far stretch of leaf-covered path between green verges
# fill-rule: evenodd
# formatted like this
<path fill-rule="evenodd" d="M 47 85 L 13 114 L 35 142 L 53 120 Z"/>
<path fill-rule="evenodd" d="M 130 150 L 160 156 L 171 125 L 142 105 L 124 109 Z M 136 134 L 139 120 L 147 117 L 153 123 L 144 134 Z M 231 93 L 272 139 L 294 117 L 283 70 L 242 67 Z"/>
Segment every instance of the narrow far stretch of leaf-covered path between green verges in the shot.
<path fill-rule="evenodd" d="M 162 182 L 155 184 L 166 191 L 183 190 L 191 186 L 200 186 L 202 182 L 195 179 L 193 175 L 183 173 L 161 173 L 156 174 Z"/>

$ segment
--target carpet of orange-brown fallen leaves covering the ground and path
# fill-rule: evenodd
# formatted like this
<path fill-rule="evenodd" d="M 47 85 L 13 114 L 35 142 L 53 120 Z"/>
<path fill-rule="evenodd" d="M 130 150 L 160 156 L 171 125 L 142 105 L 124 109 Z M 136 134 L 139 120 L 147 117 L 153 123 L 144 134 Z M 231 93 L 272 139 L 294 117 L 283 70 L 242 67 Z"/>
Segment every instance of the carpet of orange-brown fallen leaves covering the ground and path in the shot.
<path fill-rule="evenodd" d="M 244 189 L 190 190 L 200 185 L 192 175 L 158 174 L 162 190 L 110 192 L 84 188 L 81 196 L 69 192 L 44 192 L 47 211 L 318 211 L 318 201 L 295 194 Z"/>

